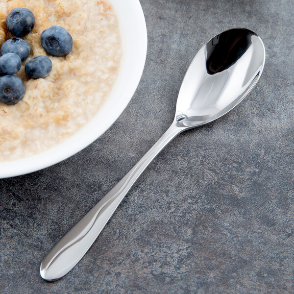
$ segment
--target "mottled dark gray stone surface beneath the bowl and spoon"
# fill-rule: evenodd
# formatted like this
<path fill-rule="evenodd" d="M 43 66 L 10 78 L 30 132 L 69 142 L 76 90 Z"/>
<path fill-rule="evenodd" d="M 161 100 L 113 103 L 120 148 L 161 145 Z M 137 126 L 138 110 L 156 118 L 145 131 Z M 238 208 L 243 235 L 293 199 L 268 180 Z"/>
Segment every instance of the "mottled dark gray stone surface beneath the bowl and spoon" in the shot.
<path fill-rule="evenodd" d="M 294 1 L 141 2 L 146 68 L 117 122 L 60 164 L 0 180 L 0 293 L 294 293 Z M 178 136 L 81 262 L 43 281 L 45 254 L 168 128 L 197 50 L 231 27 L 265 43 L 256 88 Z"/>

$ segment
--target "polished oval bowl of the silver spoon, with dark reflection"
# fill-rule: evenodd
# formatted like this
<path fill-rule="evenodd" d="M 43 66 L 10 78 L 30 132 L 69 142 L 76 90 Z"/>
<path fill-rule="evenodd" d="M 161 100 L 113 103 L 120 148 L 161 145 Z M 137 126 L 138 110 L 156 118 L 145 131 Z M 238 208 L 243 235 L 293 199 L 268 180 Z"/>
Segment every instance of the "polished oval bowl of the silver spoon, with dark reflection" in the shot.
<path fill-rule="evenodd" d="M 221 32 L 196 54 L 176 104 L 178 126 L 210 123 L 233 109 L 254 87 L 266 59 L 259 36 L 245 28 Z"/>

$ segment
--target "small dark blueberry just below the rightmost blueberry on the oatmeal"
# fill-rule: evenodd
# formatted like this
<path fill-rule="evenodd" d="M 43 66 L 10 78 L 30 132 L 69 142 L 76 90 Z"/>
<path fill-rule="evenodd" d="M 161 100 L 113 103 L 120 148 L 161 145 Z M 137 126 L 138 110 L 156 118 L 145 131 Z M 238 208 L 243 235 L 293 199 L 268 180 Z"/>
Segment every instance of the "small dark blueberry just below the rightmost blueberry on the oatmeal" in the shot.
<path fill-rule="evenodd" d="M 45 78 L 52 70 L 52 62 L 47 56 L 37 56 L 25 65 L 25 73 L 29 78 Z"/>

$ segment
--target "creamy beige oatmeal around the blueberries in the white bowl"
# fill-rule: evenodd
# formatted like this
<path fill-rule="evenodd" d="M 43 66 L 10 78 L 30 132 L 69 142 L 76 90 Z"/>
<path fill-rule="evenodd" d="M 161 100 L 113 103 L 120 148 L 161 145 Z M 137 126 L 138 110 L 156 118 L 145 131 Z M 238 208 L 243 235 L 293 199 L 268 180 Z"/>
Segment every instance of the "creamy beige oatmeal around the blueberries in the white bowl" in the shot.
<path fill-rule="evenodd" d="M 40 153 L 75 133 L 97 113 L 118 75 L 122 50 L 112 7 L 104 0 L 1 0 L 0 46 L 13 36 L 5 19 L 14 8 L 25 7 L 35 16 L 35 27 L 23 37 L 30 56 L 16 74 L 25 96 L 15 105 L 0 102 L 0 161 Z M 73 49 L 64 57 L 43 49 L 40 36 L 53 26 L 73 37 Z M 52 70 L 46 78 L 29 79 L 25 64 L 46 55 Z"/>

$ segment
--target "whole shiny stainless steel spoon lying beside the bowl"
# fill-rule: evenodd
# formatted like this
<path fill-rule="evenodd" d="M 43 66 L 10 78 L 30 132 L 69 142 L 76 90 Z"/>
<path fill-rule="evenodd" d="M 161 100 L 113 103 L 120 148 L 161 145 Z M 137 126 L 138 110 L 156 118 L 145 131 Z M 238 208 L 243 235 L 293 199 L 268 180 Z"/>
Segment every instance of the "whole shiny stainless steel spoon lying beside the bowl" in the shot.
<path fill-rule="evenodd" d="M 239 104 L 260 78 L 265 57 L 261 38 L 245 28 L 229 29 L 208 41 L 184 77 L 170 128 L 52 248 L 41 264 L 42 278 L 54 281 L 72 270 L 153 158 L 179 133 L 210 123 Z"/>

